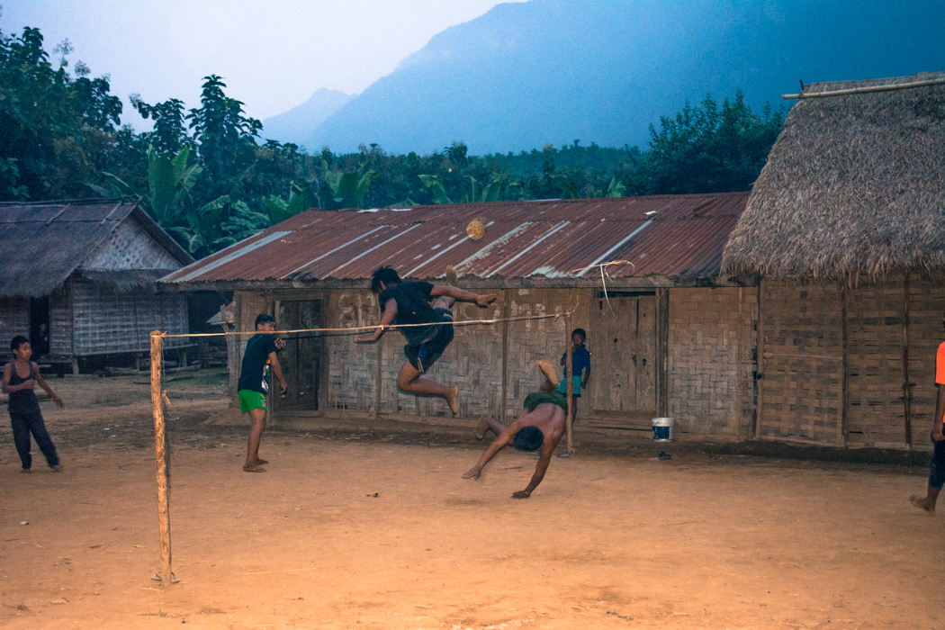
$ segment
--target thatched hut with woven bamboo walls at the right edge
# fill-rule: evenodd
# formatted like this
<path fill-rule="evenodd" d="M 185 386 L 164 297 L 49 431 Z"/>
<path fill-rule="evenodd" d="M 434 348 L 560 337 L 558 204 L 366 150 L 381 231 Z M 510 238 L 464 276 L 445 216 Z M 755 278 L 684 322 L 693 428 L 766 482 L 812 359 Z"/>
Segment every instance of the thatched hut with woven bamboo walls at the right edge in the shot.
<path fill-rule="evenodd" d="M 945 73 L 806 86 L 724 269 L 762 278 L 755 436 L 930 448 Z"/>

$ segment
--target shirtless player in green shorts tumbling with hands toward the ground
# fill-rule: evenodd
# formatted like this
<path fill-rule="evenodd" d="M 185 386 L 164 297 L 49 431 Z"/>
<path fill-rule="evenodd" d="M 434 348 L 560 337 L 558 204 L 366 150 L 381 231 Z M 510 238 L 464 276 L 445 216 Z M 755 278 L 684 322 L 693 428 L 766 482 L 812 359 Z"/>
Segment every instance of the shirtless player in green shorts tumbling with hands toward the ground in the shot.
<path fill-rule="evenodd" d="M 538 451 L 538 464 L 535 466 L 531 481 L 524 490 L 514 493 L 512 499 L 527 499 L 541 484 L 548 464 L 551 462 L 551 454 L 558 446 L 561 435 L 564 434 L 564 419 L 567 415 L 568 402 L 564 394 L 558 392 L 555 387 L 558 375 L 551 362 L 539 361 L 538 367 L 541 370 L 543 383 L 539 391 L 525 397 L 524 408 L 528 410 L 527 413 L 508 426 L 491 416 L 480 418 L 475 436 L 482 439 L 491 430 L 498 437 L 479 458 L 479 462 L 463 475 L 463 479 L 479 479 L 482 469 L 486 467 L 490 459 L 511 443 L 519 451 Z"/>

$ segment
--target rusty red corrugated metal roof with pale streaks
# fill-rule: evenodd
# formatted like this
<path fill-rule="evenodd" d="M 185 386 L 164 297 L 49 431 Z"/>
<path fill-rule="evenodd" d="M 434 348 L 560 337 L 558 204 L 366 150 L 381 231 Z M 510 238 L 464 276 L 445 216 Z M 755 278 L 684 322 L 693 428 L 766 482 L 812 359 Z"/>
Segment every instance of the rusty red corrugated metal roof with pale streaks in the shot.
<path fill-rule="evenodd" d="M 748 193 L 500 201 L 404 210 L 308 211 L 165 282 L 319 281 L 369 278 L 389 264 L 404 278 L 581 277 L 602 262 L 611 277 L 718 276 L 722 248 Z M 486 234 L 466 227 L 483 219 Z"/>

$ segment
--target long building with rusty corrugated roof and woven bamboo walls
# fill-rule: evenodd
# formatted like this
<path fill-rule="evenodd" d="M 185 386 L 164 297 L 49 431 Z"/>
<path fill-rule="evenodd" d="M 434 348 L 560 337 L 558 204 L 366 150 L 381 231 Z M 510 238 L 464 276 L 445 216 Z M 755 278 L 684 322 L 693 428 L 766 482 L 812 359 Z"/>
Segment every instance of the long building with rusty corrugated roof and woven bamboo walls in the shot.
<path fill-rule="evenodd" d="M 719 271 L 746 201 L 747 193 L 730 193 L 308 211 L 162 284 L 233 291 L 241 331 L 253 330 L 259 313 L 275 315 L 280 330 L 341 329 L 287 335 L 280 361 L 289 393 L 272 403 L 279 422 L 517 417 L 538 384 L 534 362 L 557 365 L 569 339 L 563 317 L 528 317 L 572 312 L 592 352 L 582 427 L 648 431 L 652 417 L 672 416 L 680 432 L 739 439 L 754 434 L 758 299 L 753 278 Z M 474 219 L 485 227 L 481 238 L 467 232 Z M 378 321 L 369 277 L 385 264 L 405 280 L 435 283 L 453 264 L 462 288 L 499 296 L 487 309 L 456 304 L 457 322 L 495 322 L 457 326 L 431 371 L 459 386 L 457 418 L 442 400 L 397 390 L 398 332 L 374 345 L 346 332 Z"/>

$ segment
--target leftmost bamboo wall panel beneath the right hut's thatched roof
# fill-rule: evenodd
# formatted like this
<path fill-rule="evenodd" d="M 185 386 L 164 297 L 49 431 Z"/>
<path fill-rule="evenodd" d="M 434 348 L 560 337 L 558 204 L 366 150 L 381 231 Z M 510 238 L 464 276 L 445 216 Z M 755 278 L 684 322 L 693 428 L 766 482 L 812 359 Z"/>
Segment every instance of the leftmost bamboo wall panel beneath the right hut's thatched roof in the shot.
<path fill-rule="evenodd" d="M 761 292 L 759 436 L 842 445 L 839 287 L 762 281 Z"/>

